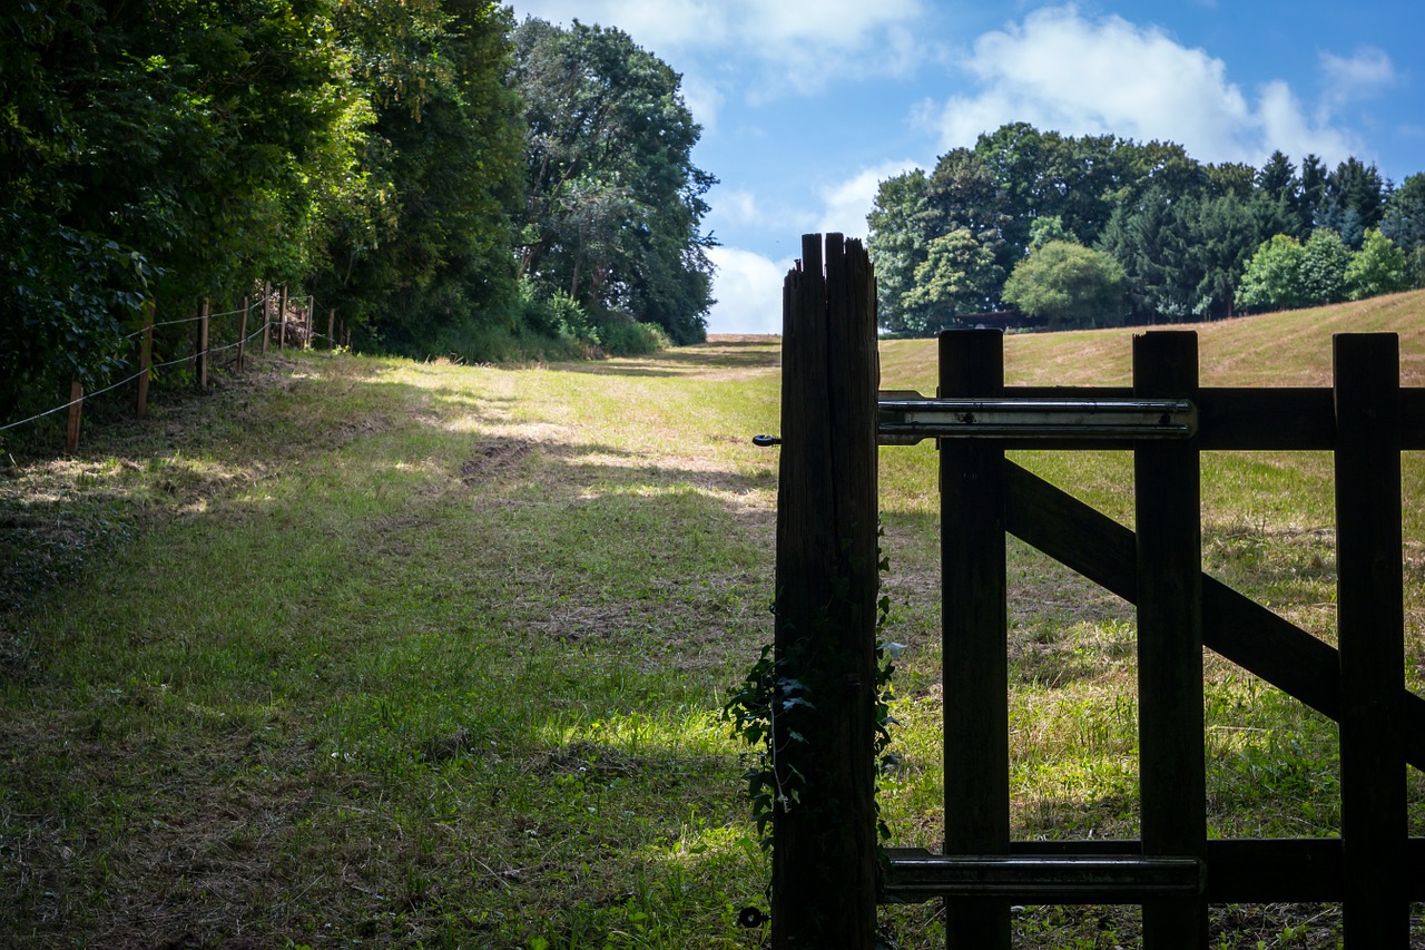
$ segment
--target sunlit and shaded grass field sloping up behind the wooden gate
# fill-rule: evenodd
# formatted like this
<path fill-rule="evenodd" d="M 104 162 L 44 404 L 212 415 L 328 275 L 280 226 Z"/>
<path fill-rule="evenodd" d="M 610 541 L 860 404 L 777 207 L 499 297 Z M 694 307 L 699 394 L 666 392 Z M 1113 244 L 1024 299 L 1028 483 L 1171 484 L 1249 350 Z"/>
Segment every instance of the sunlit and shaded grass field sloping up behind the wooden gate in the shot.
<path fill-rule="evenodd" d="M 1330 335 L 1425 294 L 1201 327 L 1207 385 L 1328 385 Z M 1121 384 L 1130 331 L 1006 341 L 1012 382 Z M 933 388 L 929 341 L 882 385 Z M 73 458 L 0 465 L 0 944 L 760 947 L 767 866 L 717 719 L 771 639 L 778 341 L 497 368 L 276 357 Z M 1131 523 L 1123 454 L 1017 461 Z M 935 452 L 882 449 L 903 766 L 940 836 Z M 1334 636 L 1331 459 L 1204 456 L 1204 563 Z M 1405 465 L 1425 683 L 1425 459 Z M 1136 834 L 1129 605 L 1010 543 L 1017 836 Z M 1334 726 L 1207 665 L 1210 826 L 1332 834 Z M 1411 772 L 1411 833 L 1425 782 Z M 1416 909 L 1419 910 L 1419 909 Z M 933 906 L 888 910 L 943 946 Z M 1332 906 L 1214 907 L 1220 947 L 1335 947 Z M 1030 907 L 1022 947 L 1136 946 Z M 1425 946 L 1425 913 L 1416 913 Z"/>

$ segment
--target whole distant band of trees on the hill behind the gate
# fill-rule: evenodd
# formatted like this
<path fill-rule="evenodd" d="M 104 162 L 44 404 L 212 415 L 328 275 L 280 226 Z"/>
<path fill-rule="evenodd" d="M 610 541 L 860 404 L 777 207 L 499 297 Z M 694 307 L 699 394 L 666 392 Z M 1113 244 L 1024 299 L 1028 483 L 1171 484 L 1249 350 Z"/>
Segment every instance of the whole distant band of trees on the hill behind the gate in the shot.
<path fill-rule="evenodd" d="M 1052 328 L 1217 320 L 1425 287 L 1425 174 L 1281 151 L 1254 168 L 1174 143 L 1026 123 L 879 183 L 882 328 L 1013 310 Z"/>

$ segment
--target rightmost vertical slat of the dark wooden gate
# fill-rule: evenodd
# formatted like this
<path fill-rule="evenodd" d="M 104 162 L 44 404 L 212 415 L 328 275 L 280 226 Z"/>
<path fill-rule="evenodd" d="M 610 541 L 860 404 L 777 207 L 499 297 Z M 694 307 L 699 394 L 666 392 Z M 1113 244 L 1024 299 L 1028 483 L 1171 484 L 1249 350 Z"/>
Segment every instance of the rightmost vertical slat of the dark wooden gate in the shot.
<path fill-rule="evenodd" d="M 1332 357 L 1342 924 L 1347 947 L 1408 947 L 1399 341 L 1337 334 Z"/>

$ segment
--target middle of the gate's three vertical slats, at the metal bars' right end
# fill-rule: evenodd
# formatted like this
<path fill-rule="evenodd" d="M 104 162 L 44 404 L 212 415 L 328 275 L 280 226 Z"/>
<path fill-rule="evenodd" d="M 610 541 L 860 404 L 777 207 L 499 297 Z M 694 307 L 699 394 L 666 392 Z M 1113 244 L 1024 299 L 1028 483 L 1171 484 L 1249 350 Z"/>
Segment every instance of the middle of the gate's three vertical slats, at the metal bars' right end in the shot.
<path fill-rule="evenodd" d="M 1133 338 L 1133 394 L 1197 399 L 1197 334 Z M 1206 857 L 1198 439 L 1134 445 L 1143 852 Z M 1207 903 L 1143 907 L 1144 950 L 1207 946 Z"/>

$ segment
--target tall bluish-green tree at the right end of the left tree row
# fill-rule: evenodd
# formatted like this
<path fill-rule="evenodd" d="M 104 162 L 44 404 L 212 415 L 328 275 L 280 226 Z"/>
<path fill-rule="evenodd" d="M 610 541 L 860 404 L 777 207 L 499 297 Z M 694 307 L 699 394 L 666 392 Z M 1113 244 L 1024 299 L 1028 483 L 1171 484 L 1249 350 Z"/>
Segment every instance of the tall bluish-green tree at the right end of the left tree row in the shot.
<path fill-rule="evenodd" d="M 693 164 L 701 134 L 681 77 L 616 29 L 529 19 L 512 81 L 526 121 L 516 213 L 523 275 L 587 310 L 705 335 L 712 304 L 701 231 L 715 178 Z"/>

